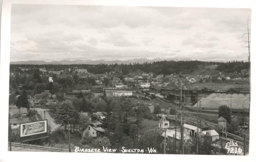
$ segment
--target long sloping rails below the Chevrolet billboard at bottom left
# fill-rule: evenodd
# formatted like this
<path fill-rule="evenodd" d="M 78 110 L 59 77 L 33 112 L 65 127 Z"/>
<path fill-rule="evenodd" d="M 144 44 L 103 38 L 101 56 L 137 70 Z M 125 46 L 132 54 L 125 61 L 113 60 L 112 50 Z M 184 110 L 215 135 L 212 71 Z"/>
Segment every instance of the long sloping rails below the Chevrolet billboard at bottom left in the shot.
<path fill-rule="evenodd" d="M 50 152 L 69 152 L 68 149 L 45 147 L 45 146 L 32 145 L 32 144 L 12 143 L 12 146 L 29 148 L 29 149 L 37 149 L 37 150 L 43 150 L 43 151 L 50 151 Z M 10 147 L 10 142 L 8 143 L 8 147 Z M 71 152 L 75 152 L 75 150 L 71 150 Z"/>

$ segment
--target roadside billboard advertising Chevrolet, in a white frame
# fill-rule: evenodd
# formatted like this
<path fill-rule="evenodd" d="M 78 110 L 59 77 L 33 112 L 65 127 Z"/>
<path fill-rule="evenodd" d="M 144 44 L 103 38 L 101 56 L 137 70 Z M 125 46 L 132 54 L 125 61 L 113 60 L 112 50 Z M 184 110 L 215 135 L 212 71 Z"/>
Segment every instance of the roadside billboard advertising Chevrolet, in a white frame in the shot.
<path fill-rule="evenodd" d="M 43 133 L 47 133 L 47 120 L 20 124 L 20 137 L 34 136 Z"/>

